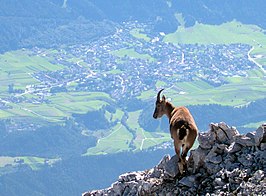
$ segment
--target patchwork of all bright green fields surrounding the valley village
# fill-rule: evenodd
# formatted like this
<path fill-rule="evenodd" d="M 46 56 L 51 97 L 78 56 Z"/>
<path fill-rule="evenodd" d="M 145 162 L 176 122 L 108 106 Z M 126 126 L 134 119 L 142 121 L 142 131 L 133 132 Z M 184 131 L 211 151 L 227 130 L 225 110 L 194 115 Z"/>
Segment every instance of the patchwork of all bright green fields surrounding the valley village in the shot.
<path fill-rule="evenodd" d="M 177 17 L 179 20 L 182 19 L 179 15 Z M 146 42 L 151 41 L 151 38 L 145 35 L 142 29 L 133 29 L 130 34 L 135 38 L 144 39 Z M 246 43 L 253 46 L 247 55 L 249 55 L 250 60 L 258 65 L 257 68 L 248 72 L 247 77 L 224 78 L 226 83 L 221 86 L 212 86 L 197 76 L 191 82 L 177 82 L 170 87 L 162 80 L 157 81 L 155 88 L 167 87 L 164 93 L 175 105 L 221 104 L 239 107 L 266 97 L 266 36 L 263 29 L 254 25 L 243 25 L 237 21 L 222 25 L 197 23 L 190 28 L 179 27 L 175 33 L 166 35 L 164 41 L 174 44 L 206 45 Z M 141 151 L 170 141 L 169 133 L 151 133 L 149 130 L 140 127 L 138 119 L 142 112 L 141 109 L 128 112 L 128 118 L 123 124 L 122 118 L 126 112 L 125 108 L 121 108 L 108 93 L 76 91 L 75 87 L 78 81 L 70 82 L 67 85 L 68 92 L 50 93 L 50 89 L 47 89 L 46 102 L 39 102 L 38 100 L 42 96 L 26 89 L 31 85 L 41 84 L 36 77 L 33 77 L 34 73 L 66 68 L 63 65 L 52 63 L 55 62 L 55 59 L 47 56 L 47 54 L 56 55 L 57 52 L 57 50 L 47 50 L 46 53 L 33 55 L 31 51 L 22 49 L 0 55 L 0 101 L 8 106 L 0 110 L 1 119 L 16 118 L 43 125 L 47 123 L 64 124 L 66 117 L 71 117 L 73 113 L 85 114 L 88 111 L 99 110 L 103 106 L 112 103 L 116 107 L 116 112 L 115 114 L 106 112 L 105 117 L 109 122 L 117 123 L 110 130 L 99 130 L 93 133 L 97 136 L 98 142 L 95 147 L 87 149 L 84 155 L 99 155 L 129 150 Z M 122 59 L 128 56 L 150 62 L 156 61 L 149 54 L 140 54 L 134 49 L 123 48 L 110 53 Z M 95 61 L 101 62 L 101 59 L 95 59 Z M 72 54 L 69 54 L 68 62 L 87 66 L 84 62 L 81 62 L 81 58 Z M 122 72 L 116 69 L 109 70 L 106 74 L 115 76 Z M 178 75 L 176 74 L 174 77 L 178 77 Z M 21 93 L 12 94 L 8 92 L 10 86 L 13 90 L 21 90 Z M 137 98 L 142 101 L 153 102 L 157 93 L 155 88 L 142 91 Z M 9 101 L 12 96 L 16 101 Z M 23 99 L 31 101 L 25 102 Z M 254 127 L 259 123 L 261 122 L 248 123 L 246 127 Z M 84 132 L 91 134 L 89 130 L 84 130 Z M 38 158 L 21 159 L 32 169 L 37 168 L 34 162 L 43 162 L 43 159 Z M 5 160 L 5 164 L 14 162 L 13 158 L 3 160 Z"/>

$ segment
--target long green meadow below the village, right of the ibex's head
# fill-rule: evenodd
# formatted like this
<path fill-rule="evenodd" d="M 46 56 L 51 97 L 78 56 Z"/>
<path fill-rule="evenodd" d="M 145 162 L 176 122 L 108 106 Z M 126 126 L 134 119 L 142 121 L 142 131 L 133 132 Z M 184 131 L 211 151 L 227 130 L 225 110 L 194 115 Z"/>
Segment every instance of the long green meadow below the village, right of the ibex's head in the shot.
<path fill-rule="evenodd" d="M 230 77 L 229 84 L 213 87 L 198 79 L 193 82 L 178 82 L 175 88 L 166 89 L 164 94 L 176 105 L 221 104 L 239 106 L 266 97 L 266 79 L 253 77 L 260 72 L 251 72 L 252 77 Z M 183 93 L 179 93 L 183 92 Z M 145 91 L 139 98 L 152 100 L 157 92 Z"/>

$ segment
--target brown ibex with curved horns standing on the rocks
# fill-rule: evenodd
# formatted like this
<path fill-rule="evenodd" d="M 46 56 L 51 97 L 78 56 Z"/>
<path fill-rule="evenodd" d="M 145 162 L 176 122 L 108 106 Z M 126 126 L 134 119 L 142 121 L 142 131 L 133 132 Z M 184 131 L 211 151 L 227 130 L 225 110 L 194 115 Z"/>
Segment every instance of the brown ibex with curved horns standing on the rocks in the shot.
<path fill-rule="evenodd" d="M 161 118 L 164 114 L 169 118 L 170 133 L 174 140 L 175 152 L 179 158 L 178 167 L 180 173 L 183 174 L 186 156 L 198 135 L 198 128 L 186 107 L 174 107 L 170 102 L 166 101 L 164 95 L 162 100 L 160 100 L 160 94 L 163 90 L 160 90 L 157 94 L 153 118 Z M 182 154 L 180 155 L 181 147 Z"/>

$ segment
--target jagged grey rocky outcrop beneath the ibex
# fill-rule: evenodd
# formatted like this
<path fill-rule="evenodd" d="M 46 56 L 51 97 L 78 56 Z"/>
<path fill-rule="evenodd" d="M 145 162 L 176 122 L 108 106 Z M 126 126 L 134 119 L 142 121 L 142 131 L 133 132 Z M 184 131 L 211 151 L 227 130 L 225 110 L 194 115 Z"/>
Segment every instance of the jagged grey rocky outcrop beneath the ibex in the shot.
<path fill-rule="evenodd" d="M 83 195 L 266 195 L 266 124 L 245 135 L 211 124 L 198 141 L 183 175 L 177 156 L 165 155 L 152 169 L 123 174 L 110 188 Z"/>

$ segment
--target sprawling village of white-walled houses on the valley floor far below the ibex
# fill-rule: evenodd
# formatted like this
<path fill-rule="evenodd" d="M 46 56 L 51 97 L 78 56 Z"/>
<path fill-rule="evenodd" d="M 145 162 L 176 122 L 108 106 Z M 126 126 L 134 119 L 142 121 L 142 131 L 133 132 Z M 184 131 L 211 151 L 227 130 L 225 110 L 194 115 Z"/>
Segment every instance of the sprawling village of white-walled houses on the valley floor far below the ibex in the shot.
<path fill-rule="evenodd" d="M 65 68 L 34 73 L 41 85 L 30 85 L 25 92 L 38 94 L 39 100 L 33 101 L 41 103 L 47 101 L 45 96 L 66 92 L 75 83 L 75 91 L 106 92 L 117 100 L 129 99 L 155 89 L 157 81 L 170 87 L 200 78 L 220 86 L 226 83 L 225 77 L 245 77 L 247 70 L 256 66 L 248 59 L 251 46 L 246 44 L 174 45 L 163 40 L 163 33 L 147 40 L 133 36 L 134 29 L 149 35 L 148 27 L 128 22 L 114 35 L 89 45 L 68 46 L 57 53 L 35 48 L 34 55 L 49 57 L 51 63 Z"/>

